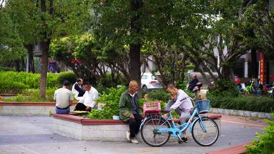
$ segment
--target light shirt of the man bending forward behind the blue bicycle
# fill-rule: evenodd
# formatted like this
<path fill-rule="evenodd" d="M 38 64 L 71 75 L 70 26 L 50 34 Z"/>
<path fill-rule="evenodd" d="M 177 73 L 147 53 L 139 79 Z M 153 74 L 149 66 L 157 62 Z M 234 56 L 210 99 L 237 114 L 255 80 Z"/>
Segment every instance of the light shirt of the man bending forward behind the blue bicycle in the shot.
<path fill-rule="evenodd" d="M 179 89 L 178 94 L 176 95 L 175 103 L 170 106 L 170 108 L 176 109 L 177 107 L 180 107 L 182 110 L 190 110 L 193 108 L 193 105 L 188 97 L 189 96 L 183 90 Z"/>

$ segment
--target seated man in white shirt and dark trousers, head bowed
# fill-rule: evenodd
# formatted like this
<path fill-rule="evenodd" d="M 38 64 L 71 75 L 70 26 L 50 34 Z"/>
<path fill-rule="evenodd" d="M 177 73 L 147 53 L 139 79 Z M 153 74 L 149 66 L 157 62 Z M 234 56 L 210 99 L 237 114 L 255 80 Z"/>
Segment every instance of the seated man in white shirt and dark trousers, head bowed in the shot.
<path fill-rule="evenodd" d="M 94 100 L 99 96 L 98 91 L 91 87 L 89 82 L 85 82 L 83 86 L 86 92 L 84 96 L 78 101 L 74 110 L 91 111 L 93 108 L 97 109 L 98 105 Z"/>

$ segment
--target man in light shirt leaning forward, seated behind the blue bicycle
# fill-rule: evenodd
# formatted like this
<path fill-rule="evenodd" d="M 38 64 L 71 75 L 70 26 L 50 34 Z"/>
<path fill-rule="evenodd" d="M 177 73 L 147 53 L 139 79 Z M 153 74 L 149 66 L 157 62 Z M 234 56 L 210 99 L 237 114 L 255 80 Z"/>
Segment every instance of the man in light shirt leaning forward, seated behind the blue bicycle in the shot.
<path fill-rule="evenodd" d="M 186 120 L 191 117 L 190 110 L 193 108 L 192 102 L 189 96 L 181 89 L 177 89 L 173 84 L 167 85 L 166 91 L 172 96 L 172 100 L 169 100 L 166 105 L 166 112 L 175 110 L 180 115 L 181 125 L 186 123 Z M 182 128 L 181 128 L 182 129 Z M 187 142 L 186 133 L 182 134 L 183 142 Z M 179 139 L 178 143 L 182 143 Z"/>

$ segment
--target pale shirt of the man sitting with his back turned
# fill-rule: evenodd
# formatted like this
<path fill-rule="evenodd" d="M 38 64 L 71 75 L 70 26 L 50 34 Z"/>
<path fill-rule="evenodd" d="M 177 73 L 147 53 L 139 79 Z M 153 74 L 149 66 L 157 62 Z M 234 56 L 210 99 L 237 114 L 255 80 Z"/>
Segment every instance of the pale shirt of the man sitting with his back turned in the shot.
<path fill-rule="evenodd" d="M 73 101 L 73 93 L 65 88 L 59 88 L 54 92 L 54 100 L 56 100 L 56 106 L 65 108 L 70 106 L 70 101 Z"/>

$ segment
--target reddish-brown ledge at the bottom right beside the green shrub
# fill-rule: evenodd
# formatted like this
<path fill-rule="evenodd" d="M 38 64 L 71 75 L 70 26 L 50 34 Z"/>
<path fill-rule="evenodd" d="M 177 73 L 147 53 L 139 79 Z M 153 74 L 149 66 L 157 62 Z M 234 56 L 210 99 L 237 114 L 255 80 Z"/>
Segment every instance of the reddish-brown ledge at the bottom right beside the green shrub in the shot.
<path fill-rule="evenodd" d="M 245 145 L 252 145 L 252 142 L 242 143 L 235 146 L 210 151 L 206 154 L 243 154 L 247 152 L 247 148 Z"/>

